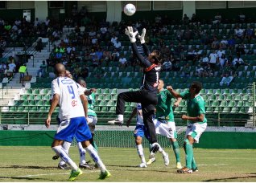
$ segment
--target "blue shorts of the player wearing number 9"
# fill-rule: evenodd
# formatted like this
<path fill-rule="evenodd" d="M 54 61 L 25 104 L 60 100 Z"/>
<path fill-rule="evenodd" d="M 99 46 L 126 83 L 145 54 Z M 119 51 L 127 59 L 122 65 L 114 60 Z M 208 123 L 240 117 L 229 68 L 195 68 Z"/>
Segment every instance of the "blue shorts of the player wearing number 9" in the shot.
<path fill-rule="evenodd" d="M 54 139 L 72 142 L 73 137 L 76 137 L 77 142 L 92 138 L 85 117 L 75 117 L 61 121 Z"/>

